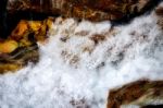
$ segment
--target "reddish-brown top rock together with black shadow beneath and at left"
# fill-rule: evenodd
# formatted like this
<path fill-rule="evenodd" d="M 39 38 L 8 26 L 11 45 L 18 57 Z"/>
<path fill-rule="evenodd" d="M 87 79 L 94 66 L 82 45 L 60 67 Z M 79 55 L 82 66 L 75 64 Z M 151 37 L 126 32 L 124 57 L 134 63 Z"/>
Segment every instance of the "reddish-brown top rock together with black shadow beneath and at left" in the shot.
<path fill-rule="evenodd" d="M 7 38 L 20 20 L 47 16 L 86 19 L 92 22 L 129 22 L 153 9 L 161 0 L 0 0 L 0 33 Z"/>

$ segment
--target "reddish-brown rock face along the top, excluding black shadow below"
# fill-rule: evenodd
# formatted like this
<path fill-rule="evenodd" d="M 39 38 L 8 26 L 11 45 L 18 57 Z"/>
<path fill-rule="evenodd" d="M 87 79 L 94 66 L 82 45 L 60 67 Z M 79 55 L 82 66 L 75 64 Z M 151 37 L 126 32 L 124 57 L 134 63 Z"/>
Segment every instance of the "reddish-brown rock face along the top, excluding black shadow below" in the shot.
<path fill-rule="evenodd" d="M 160 0 L 10 0 L 9 12 L 35 11 L 90 21 L 117 21 L 142 14 Z"/>

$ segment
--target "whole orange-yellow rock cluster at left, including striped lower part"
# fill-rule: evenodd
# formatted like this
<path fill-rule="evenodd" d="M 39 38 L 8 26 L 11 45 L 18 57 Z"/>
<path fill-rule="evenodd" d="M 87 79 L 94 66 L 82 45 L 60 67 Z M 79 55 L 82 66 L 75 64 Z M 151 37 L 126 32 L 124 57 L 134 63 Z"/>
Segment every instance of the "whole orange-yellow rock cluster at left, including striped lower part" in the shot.
<path fill-rule="evenodd" d="M 37 63 L 39 51 L 37 43 L 43 43 L 53 22 L 22 20 L 7 40 L 0 43 L 0 74 L 14 72 L 28 62 Z"/>

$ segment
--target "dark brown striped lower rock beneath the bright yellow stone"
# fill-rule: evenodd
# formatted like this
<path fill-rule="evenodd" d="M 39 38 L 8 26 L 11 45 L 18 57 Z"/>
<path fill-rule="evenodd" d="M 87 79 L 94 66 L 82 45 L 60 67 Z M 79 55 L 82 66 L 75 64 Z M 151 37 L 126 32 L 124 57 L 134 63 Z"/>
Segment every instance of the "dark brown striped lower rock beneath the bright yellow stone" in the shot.
<path fill-rule="evenodd" d="M 5 56 L 4 53 L 1 53 L 0 74 L 17 71 L 25 67 L 28 62 L 38 62 L 38 59 L 39 53 L 37 45 L 32 45 L 29 47 L 21 47 L 12 53 L 5 53 Z"/>

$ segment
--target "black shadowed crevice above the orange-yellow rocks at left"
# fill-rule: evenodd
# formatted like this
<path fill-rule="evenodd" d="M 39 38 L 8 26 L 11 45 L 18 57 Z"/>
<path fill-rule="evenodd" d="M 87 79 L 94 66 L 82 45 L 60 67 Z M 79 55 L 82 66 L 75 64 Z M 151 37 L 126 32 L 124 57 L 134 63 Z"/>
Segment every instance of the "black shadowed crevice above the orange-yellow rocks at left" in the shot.
<path fill-rule="evenodd" d="M 43 21 L 48 19 L 48 16 L 57 17 L 59 15 L 32 11 L 17 11 L 15 13 L 7 12 L 5 20 L 0 24 L 2 25 L 0 28 L 0 38 L 7 38 L 21 20 Z"/>

